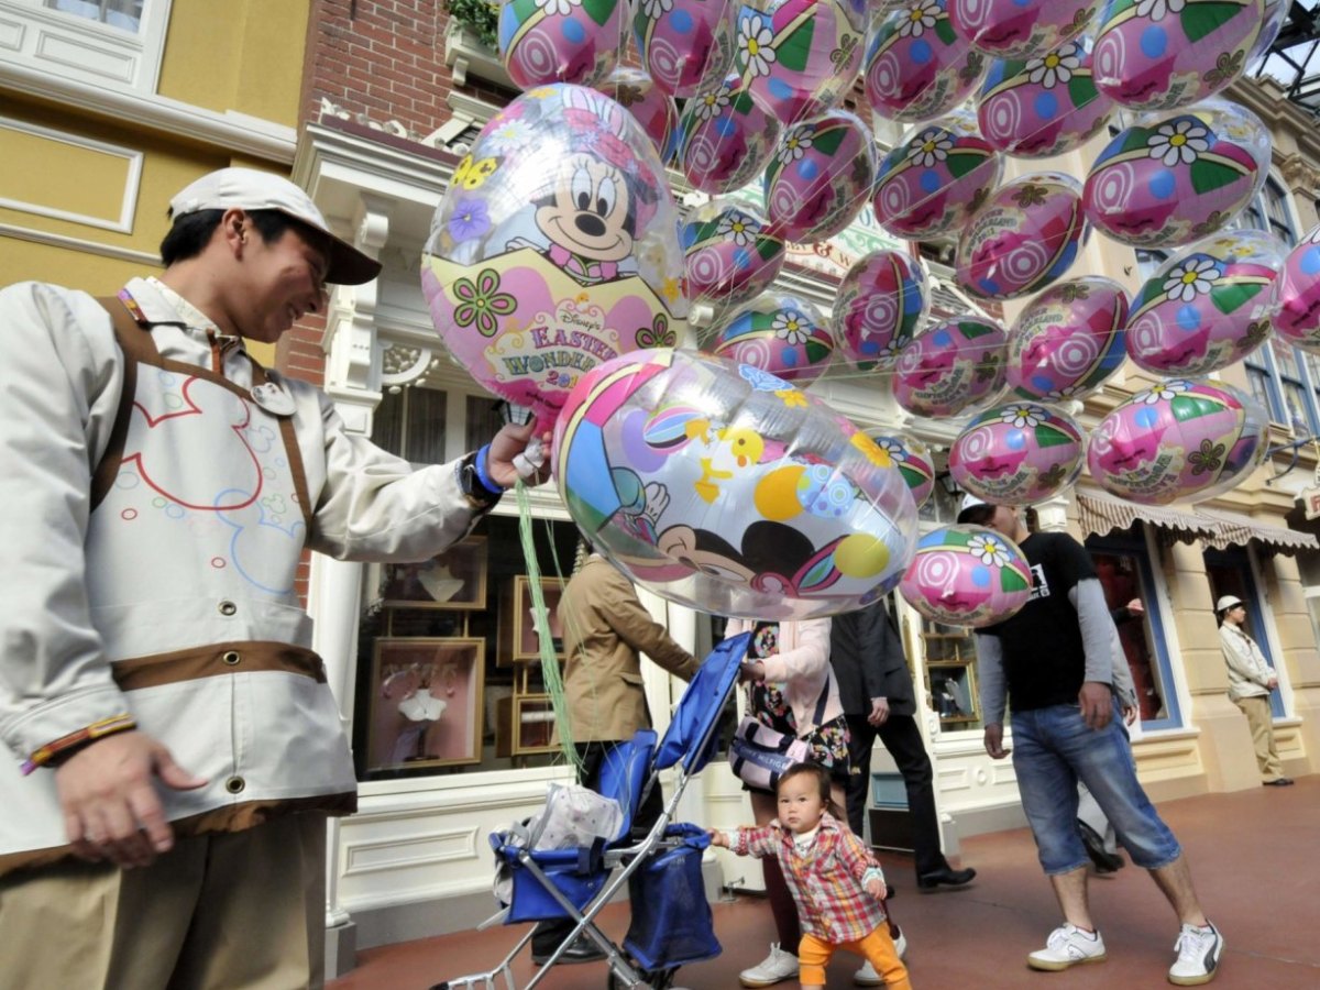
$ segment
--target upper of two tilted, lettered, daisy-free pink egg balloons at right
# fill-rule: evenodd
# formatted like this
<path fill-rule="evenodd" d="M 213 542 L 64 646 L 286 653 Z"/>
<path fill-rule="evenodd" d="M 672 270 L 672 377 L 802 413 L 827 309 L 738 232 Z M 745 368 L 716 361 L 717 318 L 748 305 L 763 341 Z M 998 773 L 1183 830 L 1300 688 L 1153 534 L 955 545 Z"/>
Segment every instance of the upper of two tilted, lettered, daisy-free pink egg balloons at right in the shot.
<path fill-rule="evenodd" d="M 1039 292 L 1077 260 L 1085 226 L 1077 180 L 1059 172 L 1023 176 L 991 193 L 968 220 L 954 277 L 983 300 Z"/>

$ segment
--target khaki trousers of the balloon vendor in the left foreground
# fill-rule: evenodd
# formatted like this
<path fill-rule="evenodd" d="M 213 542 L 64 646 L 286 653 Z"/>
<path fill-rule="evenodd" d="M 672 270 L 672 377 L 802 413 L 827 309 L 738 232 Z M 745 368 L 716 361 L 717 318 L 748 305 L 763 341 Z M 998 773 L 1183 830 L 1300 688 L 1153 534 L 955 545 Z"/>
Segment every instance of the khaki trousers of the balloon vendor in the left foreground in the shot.
<path fill-rule="evenodd" d="M 326 820 L 177 840 L 152 866 L 65 861 L 0 879 L 0 983 L 294 990 L 325 969 Z"/>

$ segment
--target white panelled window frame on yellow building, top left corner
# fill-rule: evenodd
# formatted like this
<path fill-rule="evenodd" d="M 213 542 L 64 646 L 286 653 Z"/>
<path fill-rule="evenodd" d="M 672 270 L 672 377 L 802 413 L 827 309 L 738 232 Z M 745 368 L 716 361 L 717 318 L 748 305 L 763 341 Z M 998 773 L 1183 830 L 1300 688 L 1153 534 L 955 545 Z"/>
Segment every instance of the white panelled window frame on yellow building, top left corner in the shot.
<path fill-rule="evenodd" d="M 145 0 L 137 32 L 45 7 L 0 0 L 0 62 L 92 86 L 152 95 L 173 0 Z"/>

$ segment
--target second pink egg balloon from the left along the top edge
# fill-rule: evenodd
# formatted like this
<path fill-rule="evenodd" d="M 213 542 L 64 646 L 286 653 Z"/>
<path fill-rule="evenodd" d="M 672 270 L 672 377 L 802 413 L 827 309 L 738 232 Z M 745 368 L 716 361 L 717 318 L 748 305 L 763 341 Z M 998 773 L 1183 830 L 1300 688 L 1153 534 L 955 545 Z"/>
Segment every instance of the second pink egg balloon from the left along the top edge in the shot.
<path fill-rule="evenodd" d="M 635 5 L 632 37 L 647 75 L 664 92 L 686 99 L 733 67 L 734 4 L 644 0 Z"/>

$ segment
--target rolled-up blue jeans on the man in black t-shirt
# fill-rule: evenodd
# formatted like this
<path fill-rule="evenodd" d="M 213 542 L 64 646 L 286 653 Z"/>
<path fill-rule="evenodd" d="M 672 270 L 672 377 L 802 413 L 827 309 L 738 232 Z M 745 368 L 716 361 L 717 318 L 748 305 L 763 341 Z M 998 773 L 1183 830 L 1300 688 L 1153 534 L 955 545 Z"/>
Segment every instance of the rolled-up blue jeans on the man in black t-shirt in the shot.
<path fill-rule="evenodd" d="M 1077 833 L 1077 781 L 1094 795 L 1133 862 L 1158 870 L 1177 859 L 1177 845 L 1142 785 L 1118 705 L 1107 726 L 1088 729 L 1077 705 L 1012 713 L 1012 768 L 1022 807 L 1047 874 L 1088 862 Z"/>

